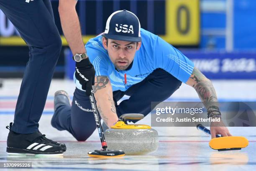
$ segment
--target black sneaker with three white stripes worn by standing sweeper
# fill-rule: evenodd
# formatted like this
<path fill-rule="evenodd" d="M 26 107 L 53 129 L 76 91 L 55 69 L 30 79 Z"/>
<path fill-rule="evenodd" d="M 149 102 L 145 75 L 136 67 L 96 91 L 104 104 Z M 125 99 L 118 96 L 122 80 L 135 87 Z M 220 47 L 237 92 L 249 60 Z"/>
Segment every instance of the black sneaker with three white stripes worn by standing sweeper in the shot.
<path fill-rule="evenodd" d="M 12 123 L 6 128 L 10 130 L 11 127 Z M 6 152 L 8 154 L 63 155 L 64 151 L 61 145 L 53 143 L 39 131 L 31 134 L 20 134 L 10 130 Z"/>

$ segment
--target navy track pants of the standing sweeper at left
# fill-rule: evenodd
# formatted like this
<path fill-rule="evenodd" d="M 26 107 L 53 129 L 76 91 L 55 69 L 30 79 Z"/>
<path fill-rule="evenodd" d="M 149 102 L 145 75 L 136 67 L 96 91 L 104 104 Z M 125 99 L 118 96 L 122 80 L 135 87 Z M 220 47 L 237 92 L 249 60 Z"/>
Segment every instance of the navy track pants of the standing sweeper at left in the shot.
<path fill-rule="evenodd" d="M 26 0 L 0 0 L 0 9 L 29 47 L 29 61 L 11 130 L 16 133 L 33 133 L 38 130 L 38 121 L 44 110 L 61 51 L 61 38 L 54 23 L 50 0 L 30 0 L 29 3 Z"/>

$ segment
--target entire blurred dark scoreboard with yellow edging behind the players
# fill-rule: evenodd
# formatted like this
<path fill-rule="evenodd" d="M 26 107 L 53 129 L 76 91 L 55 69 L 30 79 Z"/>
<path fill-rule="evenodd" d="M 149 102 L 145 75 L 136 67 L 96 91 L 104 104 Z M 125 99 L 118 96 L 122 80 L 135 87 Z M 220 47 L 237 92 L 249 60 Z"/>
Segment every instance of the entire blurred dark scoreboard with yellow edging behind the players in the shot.
<path fill-rule="evenodd" d="M 131 3 L 136 5 L 136 12 L 134 12 L 138 18 L 141 21 L 141 27 L 145 28 L 148 31 L 151 31 L 152 33 L 155 33 L 159 36 L 161 36 L 165 41 L 168 43 L 171 43 L 174 46 L 197 46 L 200 43 L 200 0 L 120 0 L 120 3 L 125 3 L 125 5 L 120 6 L 120 9 L 130 9 Z M 143 10 L 149 5 L 150 2 L 153 2 L 153 8 L 148 8 L 147 13 L 143 13 Z M 57 0 L 53 0 L 53 8 L 55 10 L 55 21 L 56 23 L 59 23 L 59 16 L 57 12 Z M 93 6 L 92 0 L 79 0 L 77 6 L 82 7 L 82 3 L 88 3 L 87 6 L 90 4 Z M 90 3 L 90 4 L 89 4 Z M 111 3 L 111 0 L 104 1 L 104 0 L 96 0 L 95 3 Z M 115 0 L 113 0 L 112 4 L 116 3 Z M 115 5 L 115 4 L 114 4 Z M 85 5 L 84 5 L 85 6 Z M 96 13 L 102 13 L 102 16 L 110 15 L 113 11 L 116 9 L 110 9 L 111 11 L 108 11 L 108 14 L 105 14 L 102 12 L 102 8 L 97 8 L 99 5 L 95 5 L 95 11 Z M 106 4 L 103 5 L 104 7 Z M 154 11 L 150 11 L 150 9 L 153 9 Z M 81 29 L 84 30 L 86 28 L 83 28 L 83 26 L 87 26 L 87 18 L 83 17 L 81 14 L 84 14 L 85 12 L 79 13 L 79 10 L 84 10 L 85 12 L 89 9 L 78 9 L 78 15 L 80 18 L 80 23 L 86 23 L 81 24 Z M 142 12 L 141 12 L 142 11 Z M 88 13 L 91 13 L 90 11 Z M 154 14 L 150 14 L 154 13 Z M 149 15 L 150 14 L 150 15 Z M 154 20 L 150 20 L 151 16 L 155 16 Z M 91 18 L 93 17 L 90 16 Z M 146 18 L 147 22 L 153 22 L 154 28 L 156 28 L 158 31 L 147 29 L 148 23 L 144 22 L 144 19 Z M 90 19 L 92 20 L 92 19 Z M 95 22 L 97 22 L 98 18 L 95 18 Z M 105 26 L 106 18 L 102 19 L 102 24 L 100 26 Z M 143 20 L 143 21 L 142 21 Z M 91 23 L 91 21 L 90 21 Z M 149 23 L 150 24 L 150 23 Z M 62 44 L 64 46 L 67 46 L 67 41 L 63 36 L 63 33 L 61 32 L 61 26 L 60 24 L 56 24 L 59 28 L 59 31 L 61 33 L 61 39 Z M 99 26 L 95 24 L 96 26 Z M 87 26 L 88 27 L 88 26 Z M 103 31 L 103 28 L 101 28 Z M 95 28 L 95 31 L 89 31 L 88 34 L 83 35 L 84 42 L 87 42 L 90 38 L 95 37 L 98 33 L 96 30 L 99 30 L 97 27 Z M 82 31 L 83 32 L 83 31 Z M 25 46 L 26 43 L 20 38 L 18 35 L 18 32 L 12 25 L 12 23 L 5 17 L 4 13 L 0 11 L 0 46 Z"/>

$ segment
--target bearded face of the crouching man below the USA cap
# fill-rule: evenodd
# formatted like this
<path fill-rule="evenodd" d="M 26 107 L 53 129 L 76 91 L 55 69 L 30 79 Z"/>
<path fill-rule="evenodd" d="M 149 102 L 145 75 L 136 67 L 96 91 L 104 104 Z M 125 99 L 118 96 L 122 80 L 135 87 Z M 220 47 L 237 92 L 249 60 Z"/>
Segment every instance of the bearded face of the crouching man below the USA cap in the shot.
<path fill-rule="evenodd" d="M 103 37 L 103 46 L 108 50 L 110 60 L 119 70 L 125 70 L 132 63 L 136 51 L 141 47 L 141 42 L 118 41 Z M 107 44 L 108 43 L 108 44 Z"/>

